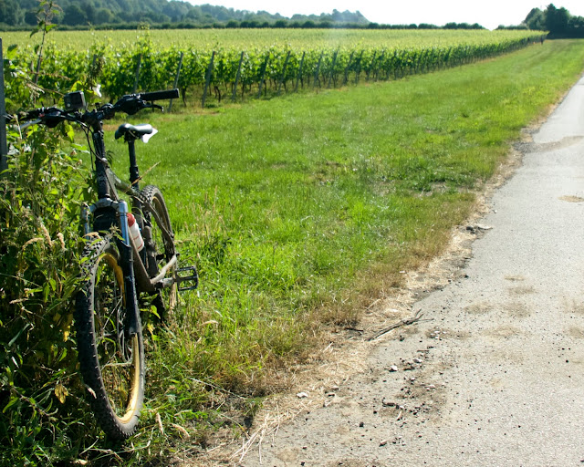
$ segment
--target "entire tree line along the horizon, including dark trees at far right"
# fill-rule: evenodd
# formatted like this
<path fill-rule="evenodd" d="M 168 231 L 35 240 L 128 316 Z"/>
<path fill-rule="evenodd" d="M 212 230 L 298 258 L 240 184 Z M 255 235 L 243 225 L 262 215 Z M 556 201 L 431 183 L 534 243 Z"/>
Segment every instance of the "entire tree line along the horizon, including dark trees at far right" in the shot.
<path fill-rule="evenodd" d="M 28 29 L 45 20 L 50 9 L 51 22 L 60 29 L 135 29 L 196 27 L 366 27 L 370 29 L 483 29 L 477 23 L 382 25 L 370 22 L 359 11 L 330 14 L 294 15 L 291 18 L 266 11 L 251 12 L 225 6 L 191 5 L 183 0 L 0 0 L 0 30 Z M 549 31 L 551 37 L 584 37 L 584 17 L 571 16 L 564 7 L 547 5 L 533 8 L 518 26 L 499 29 Z"/>

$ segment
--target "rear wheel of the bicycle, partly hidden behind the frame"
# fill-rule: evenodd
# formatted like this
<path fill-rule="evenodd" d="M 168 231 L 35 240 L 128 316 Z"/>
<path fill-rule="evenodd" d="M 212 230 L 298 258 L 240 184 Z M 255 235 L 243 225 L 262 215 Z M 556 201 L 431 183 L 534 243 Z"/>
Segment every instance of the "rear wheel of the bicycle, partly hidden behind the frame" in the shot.
<path fill-rule="evenodd" d="M 147 185 L 142 190 L 144 217 L 144 244 L 146 246 L 148 275 L 152 278 L 158 275 L 165 265 L 171 261 L 176 253 L 174 248 L 174 233 L 172 233 L 171 218 L 166 209 L 166 203 L 160 189 L 154 185 Z M 166 275 L 176 274 L 177 265 L 171 268 Z M 160 317 L 172 311 L 177 301 L 177 285 L 172 284 L 163 288 L 154 301 Z"/>

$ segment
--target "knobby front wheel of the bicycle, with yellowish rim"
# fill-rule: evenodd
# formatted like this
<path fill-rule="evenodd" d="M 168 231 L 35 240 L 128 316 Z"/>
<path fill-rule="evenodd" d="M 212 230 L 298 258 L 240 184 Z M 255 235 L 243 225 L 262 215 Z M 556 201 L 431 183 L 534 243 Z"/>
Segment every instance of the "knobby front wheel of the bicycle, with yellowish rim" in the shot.
<path fill-rule="evenodd" d="M 79 368 L 102 430 L 125 440 L 136 430 L 144 400 L 144 345 L 140 317 L 129 330 L 118 246 L 110 237 L 89 244 L 86 273 L 75 301 Z"/>

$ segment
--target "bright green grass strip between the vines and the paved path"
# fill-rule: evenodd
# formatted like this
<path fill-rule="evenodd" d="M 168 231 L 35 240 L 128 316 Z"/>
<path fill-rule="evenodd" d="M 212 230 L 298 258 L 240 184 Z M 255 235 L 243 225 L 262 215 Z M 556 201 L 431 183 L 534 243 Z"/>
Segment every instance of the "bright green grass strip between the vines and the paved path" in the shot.
<path fill-rule="evenodd" d="M 138 148 L 142 171 L 160 162 L 146 179 L 162 188 L 183 264 L 199 267 L 201 285 L 149 339 L 148 410 L 134 445 L 171 455 L 181 442 L 171 423 L 203 441 L 217 398 L 266 394 L 266 375 L 307 355 L 323 325 L 359 319 L 364 300 L 399 285 L 399 271 L 439 254 L 520 130 L 583 63 L 584 41 L 547 41 L 390 83 L 142 113 L 136 121 L 160 130 Z M 124 148 L 109 144 L 121 173 Z"/>

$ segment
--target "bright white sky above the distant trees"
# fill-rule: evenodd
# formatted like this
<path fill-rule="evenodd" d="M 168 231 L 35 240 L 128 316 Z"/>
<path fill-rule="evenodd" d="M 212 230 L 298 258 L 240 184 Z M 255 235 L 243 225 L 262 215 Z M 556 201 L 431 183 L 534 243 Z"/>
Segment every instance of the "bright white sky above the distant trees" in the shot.
<path fill-rule="evenodd" d="M 546 8 L 553 3 L 565 7 L 573 16 L 584 16 L 583 0 L 561 0 L 539 4 L 542 0 L 296 0 L 277 2 L 274 0 L 188 0 L 193 5 L 223 5 L 236 10 L 279 13 L 290 17 L 295 14 L 320 15 L 339 11 L 359 10 L 363 16 L 375 23 L 409 25 L 430 23 L 443 26 L 449 22 L 478 23 L 489 29 L 499 25 L 518 25 L 531 8 Z"/>

